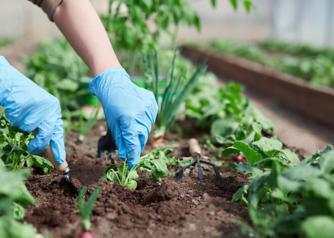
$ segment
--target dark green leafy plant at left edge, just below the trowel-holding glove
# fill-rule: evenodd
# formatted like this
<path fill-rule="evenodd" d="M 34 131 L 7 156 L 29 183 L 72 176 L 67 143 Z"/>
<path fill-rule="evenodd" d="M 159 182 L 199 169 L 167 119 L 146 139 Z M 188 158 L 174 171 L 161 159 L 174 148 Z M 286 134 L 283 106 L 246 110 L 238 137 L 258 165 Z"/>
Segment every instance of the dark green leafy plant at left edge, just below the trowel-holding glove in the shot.
<path fill-rule="evenodd" d="M 52 169 L 53 165 L 48 160 L 28 153 L 28 143 L 34 136 L 12 126 L 4 112 L 0 112 L 0 115 L 0 158 L 6 167 L 19 170 L 24 165 L 31 167 L 35 164 L 42 168 L 44 173 Z"/>

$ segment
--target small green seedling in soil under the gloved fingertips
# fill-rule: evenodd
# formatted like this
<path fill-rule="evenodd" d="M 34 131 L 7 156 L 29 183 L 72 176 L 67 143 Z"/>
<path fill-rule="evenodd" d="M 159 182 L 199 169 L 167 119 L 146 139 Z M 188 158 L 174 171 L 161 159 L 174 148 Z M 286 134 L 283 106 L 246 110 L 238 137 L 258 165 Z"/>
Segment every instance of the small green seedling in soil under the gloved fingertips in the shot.
<path fill-rule="evenodd" d="M 128 169 L 128 163 L 126 159 L 124 164 L 112 164 L 109 165 L 103 174 L 103 178 L 108 178 L 110 181 L 118 182 L 120 185 L 124 187 L 128 187 L 129 189 L 136 189 L 137 182 L 136 179 L 139 178 L 136 169 L 145 168 L 149 169 L 152 173 L 153 178 L 158 181 L 161 181 L 161 177 L 165 176 L 167 173 L 166 164 L 159 160 L 142 160 L 139 161 L 137 165 L 132 167 L 132 169 Z M 117 171 L 115 169 L 117 168 Z"/>

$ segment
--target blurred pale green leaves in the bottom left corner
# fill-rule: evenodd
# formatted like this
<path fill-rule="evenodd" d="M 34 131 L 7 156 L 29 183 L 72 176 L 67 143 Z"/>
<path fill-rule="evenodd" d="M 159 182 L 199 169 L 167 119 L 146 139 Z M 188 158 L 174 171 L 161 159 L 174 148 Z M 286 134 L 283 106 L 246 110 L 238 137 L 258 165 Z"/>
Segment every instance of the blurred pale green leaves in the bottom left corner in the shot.
<path fill-rule="evenodd" d="M 23 181 L 30 171 L 8 171 L 0 160 L 0 237 L 34 238 L 35 228 L 30 224 L 22 224 L 17 220 L 24 217 L 23 206 L 35 203 L 27 191 Z"/>

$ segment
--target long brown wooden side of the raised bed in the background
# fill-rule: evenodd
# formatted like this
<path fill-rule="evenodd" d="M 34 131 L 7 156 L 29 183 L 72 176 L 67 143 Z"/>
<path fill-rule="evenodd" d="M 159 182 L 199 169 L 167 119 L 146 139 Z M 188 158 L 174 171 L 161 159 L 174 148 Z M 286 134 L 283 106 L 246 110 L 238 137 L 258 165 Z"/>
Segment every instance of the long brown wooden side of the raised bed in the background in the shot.
<path fill-rule="evenodd" d="M 308 117 L 334 126 L 331 119 L 334 117 L 334 89 L 315 87 L 303 79 L 279 73 L 262 64 L 209 50 L 200 51 L 193 45 L 184 45 L 182 55 L 197 63 L 210 55 L 208 69 L 217 75 L 243 83 Z"/>

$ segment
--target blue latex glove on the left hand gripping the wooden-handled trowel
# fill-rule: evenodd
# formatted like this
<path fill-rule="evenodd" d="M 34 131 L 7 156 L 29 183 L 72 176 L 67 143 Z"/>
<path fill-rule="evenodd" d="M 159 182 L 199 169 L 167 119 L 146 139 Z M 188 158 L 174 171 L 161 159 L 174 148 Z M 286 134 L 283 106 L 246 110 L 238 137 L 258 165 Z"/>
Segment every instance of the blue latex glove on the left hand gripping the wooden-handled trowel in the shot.
<path fill-rule="evenodd" d="M 59 100 L 11 66 L 0 56 L 0 105 L 7 110 L 12 125 L 24 131 L 38 128 L 28 152 L 38 154 L 51 143 L 56 161 L 62 164 L 66 153 Z"/>

